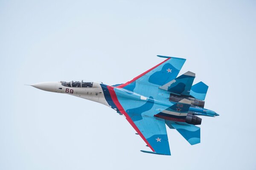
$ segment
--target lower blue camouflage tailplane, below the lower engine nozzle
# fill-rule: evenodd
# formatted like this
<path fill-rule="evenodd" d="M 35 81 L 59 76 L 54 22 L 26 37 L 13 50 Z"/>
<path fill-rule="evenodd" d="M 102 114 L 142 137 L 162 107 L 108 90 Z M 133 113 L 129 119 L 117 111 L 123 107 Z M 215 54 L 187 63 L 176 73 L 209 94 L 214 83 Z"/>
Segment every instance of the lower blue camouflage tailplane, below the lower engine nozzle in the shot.
<path fill-rule="evenodd" d="M 170 123 L 170 122 L 168 122 Z M 168 124 L 167 124 L 168 125 Z M 200 127 L 183 122 L 171 122 L 175 128 L 191 145 L 200 143 Z"/>

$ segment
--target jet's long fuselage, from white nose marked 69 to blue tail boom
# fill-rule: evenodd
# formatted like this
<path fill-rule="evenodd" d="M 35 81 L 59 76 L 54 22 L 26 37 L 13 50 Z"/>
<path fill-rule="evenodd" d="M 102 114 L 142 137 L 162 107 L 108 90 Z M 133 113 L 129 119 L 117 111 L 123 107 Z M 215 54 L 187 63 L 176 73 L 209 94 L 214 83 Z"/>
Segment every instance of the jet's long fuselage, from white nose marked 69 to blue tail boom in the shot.
<path fill-rule="evenodd" d="M 158 107 L 157 109 L 159 110 L 159 112 L 162 113 L 162 114 L 156 114 L 155 116 L 162 119 L 172 120 L 175 122 L 186 122 L 185 113 L 180 112 L 177 114 L 177 113 L 165 110 L 165 108 L 169 108 L 170 106 L 172 106 L 171 100 L 175 99 L 175 96 L 173 94 L 170 94 L 169 100 L 165 99 L 165 100 L 159 101 L 156 99 L 150 99 L 150 96 L 143 96 L 140 94 L 136 94 L 132 91 L 128 91 L 126 89 L 116 88 L 115 85 L 108 86 L 103 84 L 102 82 L 83 82 L 83 81 L 81 82 L 79 81 L 42 82 L 42 83 L 34 84 L 32 86 L 45 91 L 69 94 L 72 96 L 81 97 L 83 99 L 91 100 L 94 102 L 99 102 L 103 105 L 113 108 L 119 114 L 122 114 L 122 113 L 120 113 L 118 107 L 116 106 L 116 102 L 113 101 L 113 100 L 118 100 L 117 98 L 119 98 L 119 100 L 122 99 L 127 102 L 133 102 L 133 103 L 146 103 L 146 102 L 154 103 L 154 105 L 157 105 Z M 190 99 L 187 96 L 176 96 L 176 99 L 178 100 L 183 98 Z M 190 100 L 192 102 L 195 102 L 195 99 L 191 98 Z M 200 101 L 197 103 L 200 103 Z M 192 105 L 189 108 L 189 113 L 192 115 L 200 115 L 200 116 L 218 116 L 218 114 L 215 113 L 214 111 L 210 111 L 210 110 L 198 107 L 197 105 Z"/>

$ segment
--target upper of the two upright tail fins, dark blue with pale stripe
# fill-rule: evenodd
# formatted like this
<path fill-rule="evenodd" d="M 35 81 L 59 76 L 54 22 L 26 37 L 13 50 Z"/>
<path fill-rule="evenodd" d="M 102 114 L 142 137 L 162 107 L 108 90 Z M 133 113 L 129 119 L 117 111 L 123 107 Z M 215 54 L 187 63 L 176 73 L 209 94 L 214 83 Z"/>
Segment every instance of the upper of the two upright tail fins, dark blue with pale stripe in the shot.
<path fill-rule="evenodd" d="M 176 79 L 166 83 L 160 89 L 170 91 L 173 94 L 189 96 L 190 89 L 195 79 L 195 73 L 191 71 L 182 74 Z"/>

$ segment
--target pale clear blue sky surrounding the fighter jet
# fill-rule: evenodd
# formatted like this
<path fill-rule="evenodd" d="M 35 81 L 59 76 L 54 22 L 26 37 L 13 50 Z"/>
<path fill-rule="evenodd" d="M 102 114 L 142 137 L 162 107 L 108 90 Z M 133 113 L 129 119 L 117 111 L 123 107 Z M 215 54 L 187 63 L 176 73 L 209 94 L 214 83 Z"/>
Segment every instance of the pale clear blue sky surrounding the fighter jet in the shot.
<path fill-rule="evenodd" d="M 256 1 L 0 0 L 0 170 L 255 170 Z M 25 86 L 124 83 L 167 55 L 209 85 L 201 143 L 148 150 L 111 108 Z"/>

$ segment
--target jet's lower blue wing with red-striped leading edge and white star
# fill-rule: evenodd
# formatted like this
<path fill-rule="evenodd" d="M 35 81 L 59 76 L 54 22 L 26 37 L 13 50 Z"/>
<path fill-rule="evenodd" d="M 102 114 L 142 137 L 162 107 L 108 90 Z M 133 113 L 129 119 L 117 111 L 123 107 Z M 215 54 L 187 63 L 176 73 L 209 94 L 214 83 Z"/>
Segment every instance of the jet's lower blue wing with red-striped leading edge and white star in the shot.
<path fill-rule="evenodd" d="M 109 94 L 108 97 L 113 101 L 111 107 L 125 116 L 125 119 L 153 151 L 143 152 L 171 155 L 165 121 L 164 119 L 154 117 L 154 99 L 149 97 L 146 98 L 147 100 L 142 99 L 141 101 L 137 101 L 135 100 L 135 94 L 131 94 L 131 97 L 135 97 L 132 99 L 122 98 L 120 91 L 122 90 L 119 88 L 108 86 L 105 88 L 104 95 L 108 96 Z M 117 96 L 121 96 L 121 98 L 118 99 Z M 124 105 L 121 105 L 120 102 L 122 104 L 127 103 L 127 107 L 124 108 Z"/>

